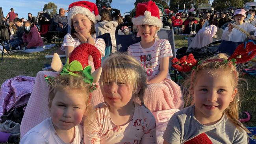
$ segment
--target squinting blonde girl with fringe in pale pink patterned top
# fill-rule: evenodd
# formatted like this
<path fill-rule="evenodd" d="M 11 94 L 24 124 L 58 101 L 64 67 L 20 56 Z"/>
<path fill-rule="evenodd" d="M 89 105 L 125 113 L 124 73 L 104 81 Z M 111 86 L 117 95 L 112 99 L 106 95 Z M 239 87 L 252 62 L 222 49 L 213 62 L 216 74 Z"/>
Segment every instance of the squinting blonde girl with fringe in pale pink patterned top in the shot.
<path fill-rule="evenodd" d="M 134 58 L 114 54 L 104 60 L 100 89 L 105 102 L 95 106 L 85 144 L 155 144 L 156 120 L 143 106 L 146 87 L 145 72 Z"/>

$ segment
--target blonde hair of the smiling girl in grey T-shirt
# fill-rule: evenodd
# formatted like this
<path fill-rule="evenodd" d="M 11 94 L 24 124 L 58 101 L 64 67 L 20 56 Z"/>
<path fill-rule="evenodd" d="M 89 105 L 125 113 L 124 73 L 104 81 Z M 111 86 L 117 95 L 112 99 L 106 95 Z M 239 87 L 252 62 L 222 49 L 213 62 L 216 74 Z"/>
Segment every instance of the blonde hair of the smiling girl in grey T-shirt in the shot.
<path fill-rule="evenodd" d="M 218 54 L 213 57 L 210 57 L 206 60 L 204 60 L 200 65 L 197 66 L 196 69 L 194 69 L 191 72 L 191 76 L 185 81 L 184 86 L 188 87 L 187 91 L 184 91 L 184 94 L 187 95 L 186 98 L 186 107 L 188 105 L 194 105 L 193 101 L 193 89 L 194 85 L 197 82 L 198 76 L 200 76 L 200 73 L 202 70 L 209 70 L 208 74 L 216 76 L 217 72 L 216 70 L 222 70 L 226 71 L 230 74 L 232 78 L 232 87 L 234 89 L 238 88 L 239 83 L 239 72 L 237 72 L 236 67 L 233 65 L 231 61 L 228 61 L 227 63 L 224 62 L 224 60 L 228 59 L 228 56 L 226 54 Z M 240 109 L 240 95 L 239 90 L 237 90 L 237 94 L 234 96 L 233 101 L 230 102 L 228 107 L 224 110 L 224 113 L 228 118 L 234 123 L 234 125 L 240 130 L 245 130 L 247 133 L 250 133 L 250 131 L 239 122 L 239 109 Z"/>

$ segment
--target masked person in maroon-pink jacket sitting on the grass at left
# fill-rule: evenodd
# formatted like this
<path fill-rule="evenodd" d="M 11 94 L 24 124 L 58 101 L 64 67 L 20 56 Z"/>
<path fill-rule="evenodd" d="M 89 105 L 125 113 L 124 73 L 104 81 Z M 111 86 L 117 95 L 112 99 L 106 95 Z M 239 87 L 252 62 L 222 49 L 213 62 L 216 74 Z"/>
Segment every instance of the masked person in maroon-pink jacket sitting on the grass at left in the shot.
<path fill-rule="evenodd" d="M 39 34 L 37 27 L 34 24 L 31 24 L 29 21 L 26 21 L 24 24 L 22 41 L 24 42 L 25 49 L 37 48 L 37 46 L 44 45 L 43 39 Z"/>

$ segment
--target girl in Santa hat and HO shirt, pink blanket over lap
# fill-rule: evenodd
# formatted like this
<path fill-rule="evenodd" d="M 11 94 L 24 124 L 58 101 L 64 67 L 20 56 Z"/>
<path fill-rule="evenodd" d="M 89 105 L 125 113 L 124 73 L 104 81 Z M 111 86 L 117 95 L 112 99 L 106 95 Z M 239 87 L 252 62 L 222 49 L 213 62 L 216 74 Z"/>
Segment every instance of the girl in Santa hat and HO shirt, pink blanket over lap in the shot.
<path fill-rule="evenodd" d="M 145 105 L 150 111 L 182 109 L 182 91 L 169 74 L 169 61 L 173 57 L 171 45 L 168 40 L 157 36 L 157 31 L 163 26 L 158 7 L 151 0 L 137 4 L 132 22 L 141 41 L 128 47 L 128 55 L 140 61 L 146 71 L 147 84 L 150 85 L 145 91 Z"/>

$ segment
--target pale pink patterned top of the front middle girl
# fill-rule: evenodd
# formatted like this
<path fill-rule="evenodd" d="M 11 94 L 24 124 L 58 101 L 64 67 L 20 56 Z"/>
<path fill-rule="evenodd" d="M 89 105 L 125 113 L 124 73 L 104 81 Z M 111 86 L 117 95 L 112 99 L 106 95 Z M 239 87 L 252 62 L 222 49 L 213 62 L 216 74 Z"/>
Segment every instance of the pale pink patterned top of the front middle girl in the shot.
<path fill-rule="evenodd" d="M 156 144 L 156 120 L 138 103 L 135 103 L 132 120 L 124 126 L 112 122 L 104 103 L 96 105 L 95 111 L 95 120 L 84 132 L 85 144 Z"/>

